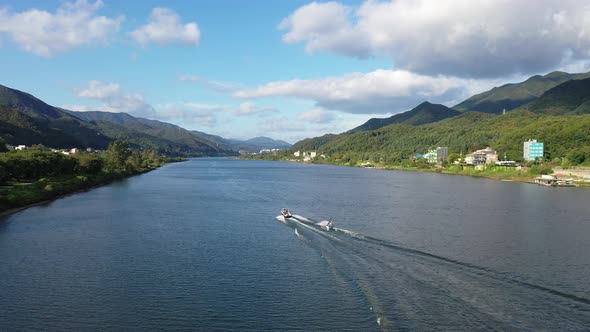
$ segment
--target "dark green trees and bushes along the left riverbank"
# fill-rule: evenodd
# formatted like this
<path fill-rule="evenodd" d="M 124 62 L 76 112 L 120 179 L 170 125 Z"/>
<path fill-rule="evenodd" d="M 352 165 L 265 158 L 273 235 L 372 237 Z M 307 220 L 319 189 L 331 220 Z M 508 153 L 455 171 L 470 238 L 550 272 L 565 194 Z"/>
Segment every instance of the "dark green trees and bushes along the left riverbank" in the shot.
<path fill-rule="evenodd" d="M 8 151 L 0 144 L 0 212 L 25 207 L 148 172 L 181 158 L 153 150 L 131 151 L 127 142 L 112 142 L 104 152 L 64 155 L 43 146 Z"/>

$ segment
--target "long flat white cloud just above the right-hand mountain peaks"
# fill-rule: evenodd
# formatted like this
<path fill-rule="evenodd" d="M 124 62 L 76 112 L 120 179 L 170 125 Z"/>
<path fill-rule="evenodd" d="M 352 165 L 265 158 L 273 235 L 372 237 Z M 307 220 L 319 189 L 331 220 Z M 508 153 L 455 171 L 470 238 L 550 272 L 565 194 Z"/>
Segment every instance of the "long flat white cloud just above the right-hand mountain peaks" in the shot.
<path fill-rule="evenodd" d="M 349 113 L 398 113 L 424 100 L 452 104 L 497 83 L 449 76 L 425 76 L 379 69 L 338 77 L 276 81 L 234 93 L 237 98 L 288 96 L 314 100 L 319 107 Z"/>

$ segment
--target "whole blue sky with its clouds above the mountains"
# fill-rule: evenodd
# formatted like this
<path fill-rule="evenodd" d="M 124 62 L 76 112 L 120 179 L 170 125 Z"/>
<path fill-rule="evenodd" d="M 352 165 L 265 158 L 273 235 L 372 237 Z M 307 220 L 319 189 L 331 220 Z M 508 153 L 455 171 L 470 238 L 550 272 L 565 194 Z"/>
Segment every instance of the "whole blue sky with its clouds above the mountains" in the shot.
<path fill-rule="evenodd" d="M 589 54 L 577 0 L 0 2 L 0 84 L 232 138 L 338 133 Z"/>

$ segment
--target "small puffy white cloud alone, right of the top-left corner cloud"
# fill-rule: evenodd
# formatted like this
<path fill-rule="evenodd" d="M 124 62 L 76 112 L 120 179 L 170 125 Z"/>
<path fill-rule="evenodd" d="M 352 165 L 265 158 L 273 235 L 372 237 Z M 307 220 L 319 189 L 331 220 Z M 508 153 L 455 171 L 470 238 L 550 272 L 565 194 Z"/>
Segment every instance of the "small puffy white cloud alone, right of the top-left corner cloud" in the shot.
<path fill-rule="evenodd" d="M 146 25 L 130 32 L 131 37 L 142 45 L 184 43 L 199 45 L 201 32 L 197 23 L 182 24 L 180 16 L 168 8 L 154 8 Z"/>

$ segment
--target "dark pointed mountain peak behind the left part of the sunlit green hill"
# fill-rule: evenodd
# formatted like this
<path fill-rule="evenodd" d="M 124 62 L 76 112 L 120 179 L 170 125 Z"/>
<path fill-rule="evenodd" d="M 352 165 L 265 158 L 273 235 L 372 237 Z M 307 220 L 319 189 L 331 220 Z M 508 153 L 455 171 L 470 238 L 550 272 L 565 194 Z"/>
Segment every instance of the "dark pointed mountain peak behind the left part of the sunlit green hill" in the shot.
<path fill-rule="evenodd" d="M 459 114 L 461 114 L 461 112 L 448 108 L 444 105 L 431 104 L 425 101 L 407 112 L 396 114 L 389 118 L 370 119 L 364 124 L 349 130 L 347 133 L 353 134 L 359 131 L 375 130 L 394 123 L 418 126 L 426 123 L 440 121 L 446 118 L 451 118 Z"/>

